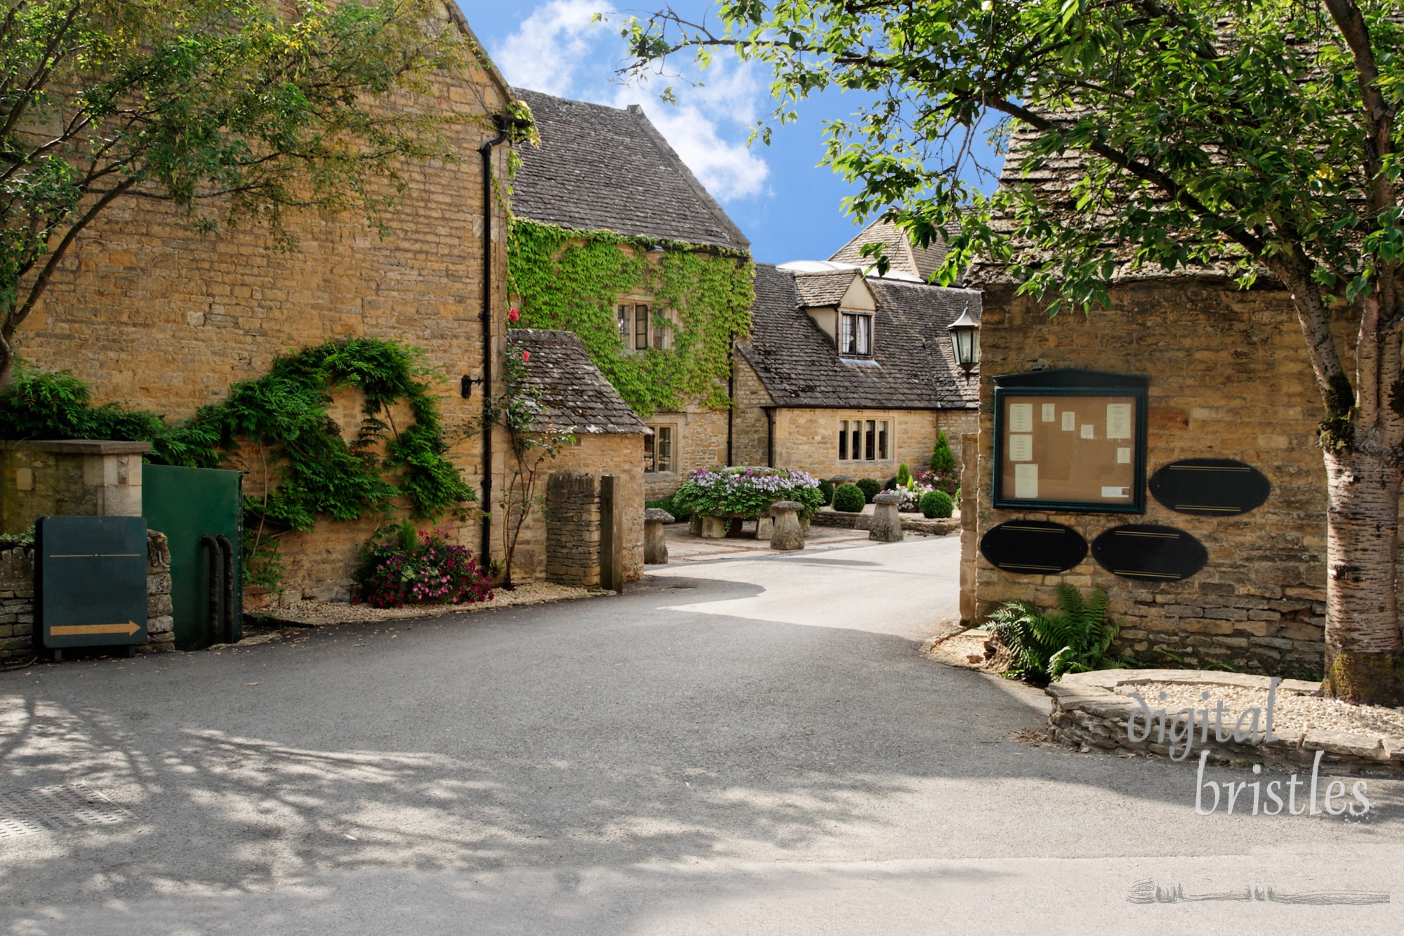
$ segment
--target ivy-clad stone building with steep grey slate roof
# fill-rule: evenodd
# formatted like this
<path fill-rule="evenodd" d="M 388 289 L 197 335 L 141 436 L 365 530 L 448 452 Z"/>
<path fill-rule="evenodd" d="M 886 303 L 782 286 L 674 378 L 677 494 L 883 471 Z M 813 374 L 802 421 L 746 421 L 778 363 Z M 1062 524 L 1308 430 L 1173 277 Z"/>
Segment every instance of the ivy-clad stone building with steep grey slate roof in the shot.
<path fill-rule="evenodd" d="M 694 378 L 726 360 L 731 332 L 744 333 L 750 242 L 637 105 L 515 94 L 532 110 L 541 146 L 521 150 L 514 216 L 567 235 L 541 259 L 514 239 L 522 325 L 580 333 L 595 364 L 644 416 L 650 498 L 671 493 L 696 468 L 734 464 L 727 374 L 715 367 L 701 386 Z M 605 243 L 618 252 L 612 260 L 577 263 L 535 288 L 528 282 L 541 261 L 566 266 Z M 708 274 L 668 285 L 670 271 L 689 256 L 708 259 Z M 715 327 L 722 320 L 733 327 Z M 640 381 L 653 385 L 640 388 Z M 649 398 L 670 402 L 651 408 Z"/>

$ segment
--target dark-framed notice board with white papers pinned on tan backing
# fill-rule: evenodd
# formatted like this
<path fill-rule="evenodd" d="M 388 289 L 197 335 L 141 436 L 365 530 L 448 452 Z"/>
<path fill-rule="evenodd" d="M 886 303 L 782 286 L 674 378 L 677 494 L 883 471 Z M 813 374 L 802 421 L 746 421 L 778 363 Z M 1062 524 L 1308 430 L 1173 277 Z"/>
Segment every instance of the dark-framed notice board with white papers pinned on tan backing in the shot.
<path fill-rule="evenodd" d="M 1143 509 L 1143 396 L 1011 388 L 998 398 L 995 506 Z"/>

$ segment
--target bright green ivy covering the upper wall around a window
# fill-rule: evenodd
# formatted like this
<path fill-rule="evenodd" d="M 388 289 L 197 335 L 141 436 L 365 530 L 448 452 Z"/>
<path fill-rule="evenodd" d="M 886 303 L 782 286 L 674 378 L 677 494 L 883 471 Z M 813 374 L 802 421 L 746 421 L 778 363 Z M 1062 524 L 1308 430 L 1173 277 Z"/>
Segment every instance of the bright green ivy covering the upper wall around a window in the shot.
<path fill-rule="evenodd" d="M 663 253 L 649 253 L 653 245 Z M 518 327 L 577 333 L 640 416 L 691 401 L 730 406 L 731 340 L 751 327 L 755 270 L 748 254 L 514 218 L 507 266 Z M 615 306 L 633 295 L 653 301 L 653 325 L 673 327 L 673 347 L 625 351 Z"/>

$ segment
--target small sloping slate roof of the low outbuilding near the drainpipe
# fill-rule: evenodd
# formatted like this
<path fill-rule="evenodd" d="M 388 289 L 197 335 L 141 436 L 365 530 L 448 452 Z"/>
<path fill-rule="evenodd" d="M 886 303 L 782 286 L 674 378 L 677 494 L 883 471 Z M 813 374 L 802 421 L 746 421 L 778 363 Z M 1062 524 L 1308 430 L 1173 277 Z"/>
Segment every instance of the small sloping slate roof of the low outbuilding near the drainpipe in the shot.
<path fill-rule="evenodd" d="M 525 385 L 541 391 L 545 420 L 556 429 L 577 436 L 650 431 L 590 360 L 574 332 L 511 329 L 507 347 L 510 354 L 531 353 Z"/>

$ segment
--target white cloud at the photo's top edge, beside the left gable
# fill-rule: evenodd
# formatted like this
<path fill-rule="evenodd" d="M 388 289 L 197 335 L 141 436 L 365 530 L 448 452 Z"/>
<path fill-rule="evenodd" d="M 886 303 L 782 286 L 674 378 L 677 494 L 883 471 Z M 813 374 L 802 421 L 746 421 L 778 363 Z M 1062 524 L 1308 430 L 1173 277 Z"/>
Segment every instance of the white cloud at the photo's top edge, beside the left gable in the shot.
<path fill-rule="evenodd" d="M 507 37 L 493 60 L 517 87 L 569 97 L 576 72 L 614 31 L 592 22 L 597 13 L 611 14 L 614 7 L 605 0 L 550 0 Z"/>

